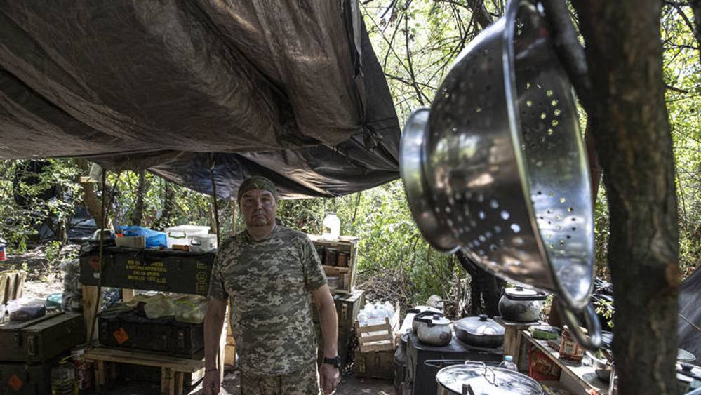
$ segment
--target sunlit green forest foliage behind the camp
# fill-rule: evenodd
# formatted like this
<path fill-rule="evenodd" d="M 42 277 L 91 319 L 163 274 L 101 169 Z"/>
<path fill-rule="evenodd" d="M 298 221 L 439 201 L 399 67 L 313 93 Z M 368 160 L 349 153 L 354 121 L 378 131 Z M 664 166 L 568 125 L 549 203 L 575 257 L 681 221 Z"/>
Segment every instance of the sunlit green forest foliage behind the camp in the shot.
<path fill-rule="evenodd" d="M 661 20 L 665 99 L 679 194 L 679 264 L 684 277 L 701 262 L 701 35 L 694 25 L 691 4 L 665 3 Z M 400 122 L 414 109 L 430 105 L 458 53 L 502 15 L 504 7 L 504 2 L 498 0 L 361 1 Z M 584 130 L 587 119 L 584 112 L 580 114 Z M 100 193 L 96 185 L 79 182 L 79 176 L 88 170 L 89 163 L 74 159 L 0 163 L 0 236 L 8 242 L 8 253 L 21 253 L 32 246 L 36 229 L 48 223 L 59 235 L 49 243 L 48 257 L 51 261 L 51 257 L 60 256 L 58 252 L 66 242 L 61 235 L 76 205 Z M 107 185 L 114 225 L 163 229 L 197 224 L 214 228 L 210 196 L 147 172 L 110 172 Z M 602 184 L 595 232 L 597 274 L 604 278 L 608 277 L 606 205 Z M 243 229 L 240 219 L 234 222 L 231 201 L 220 201 L 219 206 L 222 235 Z M 435 294 L 458 302 L 459 309 L 469 303 L 464 292 L 469 277 L 454 256 L 437 253 L 422 239 L 411 218 L 401 180 L 335 199 L 283 201 L 279 217 L 288 227 L 319 234 L 328 212 L 340 217 L 342 234 L 360 237 L 360 280 L 375 291 L 376 297 L 415 304 Z"/>

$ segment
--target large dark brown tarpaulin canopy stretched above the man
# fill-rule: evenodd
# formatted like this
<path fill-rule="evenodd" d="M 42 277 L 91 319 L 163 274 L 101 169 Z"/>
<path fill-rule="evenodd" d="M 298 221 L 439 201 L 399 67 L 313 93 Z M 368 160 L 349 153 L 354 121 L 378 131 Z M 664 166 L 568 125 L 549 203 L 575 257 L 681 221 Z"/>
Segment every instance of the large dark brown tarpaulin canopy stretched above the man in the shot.
<path fill-rule="evenodd" d="M 83 156 L 229 197 L 399 177 L 399 123 L 357 1 L 0 3 L 0 156 Z"/>

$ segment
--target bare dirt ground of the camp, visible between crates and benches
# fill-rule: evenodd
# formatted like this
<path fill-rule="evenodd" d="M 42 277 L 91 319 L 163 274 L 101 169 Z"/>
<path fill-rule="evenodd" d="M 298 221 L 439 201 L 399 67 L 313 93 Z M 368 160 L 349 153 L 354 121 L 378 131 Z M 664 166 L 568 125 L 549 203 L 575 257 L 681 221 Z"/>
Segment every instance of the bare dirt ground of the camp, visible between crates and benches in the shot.
<path fill-rule="evenodd" d="M 62 257 L 77 256 L 79 246 L 69 245 L 62 250 Z M 23 288 L 23 297 L 37 297 L 46 299 L 48 295 L 63 292 L 63 273 L 58 265 L 50 264 L 46 260 L 46 245 L 36 246 L 21 255 L 10 255 L 8 260 L 0 262 L 0 270 L 24 269 L 27 279 Z M 120 382 L 102 391 L 105 395 L 152 395 L 159 394 L 159 384 L 145 381 Z M 189 389 L 189 395 L 203 394 L 202 384 Z M 228 372 L 222 382 L 220 395 L 239 395 L 239 372 Z M 362 379 L 345 373 L 342 376 L 336 395 L 391 395 L 394 394 L 394 384 L 386 380 Z"/>

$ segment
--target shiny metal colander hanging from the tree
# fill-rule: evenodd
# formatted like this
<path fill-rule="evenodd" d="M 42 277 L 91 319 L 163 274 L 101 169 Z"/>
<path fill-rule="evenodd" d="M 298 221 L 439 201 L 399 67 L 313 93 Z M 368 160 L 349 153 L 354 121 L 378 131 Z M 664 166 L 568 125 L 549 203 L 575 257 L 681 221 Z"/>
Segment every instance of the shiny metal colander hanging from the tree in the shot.
<path fill-rule="evenodd" d="M 401 176 L 434 248 L 465 248 L 495 274 L 556 293 L 580 343 L 599 346 L 587 157 L 572 86 L 535 1 L 510 1 L 458 56 L 430 116 L 410 116 Z M 585 311 L 589 337 L 574 314 Z"/>

